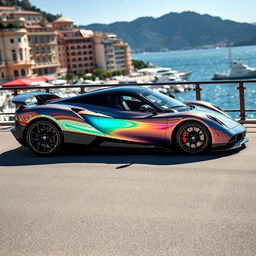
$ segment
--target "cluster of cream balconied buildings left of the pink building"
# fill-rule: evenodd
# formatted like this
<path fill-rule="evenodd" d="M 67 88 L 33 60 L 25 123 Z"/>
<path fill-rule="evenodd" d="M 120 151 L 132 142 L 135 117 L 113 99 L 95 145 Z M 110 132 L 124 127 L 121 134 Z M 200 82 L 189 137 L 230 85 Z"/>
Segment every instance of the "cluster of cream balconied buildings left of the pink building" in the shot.
<path fill-rule="evenodd" d="M 57 32 L 41 13 L 0 7 L 0 24 L 2 81 L 66 74 L 58 60 Z"/>

